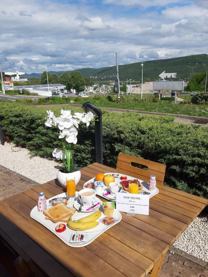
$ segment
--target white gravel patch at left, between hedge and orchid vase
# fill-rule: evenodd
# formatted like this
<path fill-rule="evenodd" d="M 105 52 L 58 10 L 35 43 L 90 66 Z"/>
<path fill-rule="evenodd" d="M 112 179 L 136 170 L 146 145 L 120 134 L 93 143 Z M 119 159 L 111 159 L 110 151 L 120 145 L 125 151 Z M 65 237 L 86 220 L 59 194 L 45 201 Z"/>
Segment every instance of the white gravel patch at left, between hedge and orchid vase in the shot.
<path fill-rule="evenodd" d="M 57 161 L 32 157 L 26 148 L 16 147 L 14 143 L 0 144 L 0 164 L 40 184 L 56 178 Z M 52 156 L 52 153 L 51 153 Z"/>

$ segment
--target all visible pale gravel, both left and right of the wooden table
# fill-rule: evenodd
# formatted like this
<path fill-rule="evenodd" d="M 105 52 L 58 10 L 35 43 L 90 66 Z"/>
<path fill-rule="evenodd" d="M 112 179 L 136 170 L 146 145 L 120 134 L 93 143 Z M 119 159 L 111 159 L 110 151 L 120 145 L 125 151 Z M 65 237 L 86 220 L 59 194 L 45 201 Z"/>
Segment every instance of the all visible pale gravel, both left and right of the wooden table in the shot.
<path fill-rule="evenodd" d="M 25 148 L 13 143 L 0 144 L 0 164 L 38 183 L 56 178 L 55 160 L 32 157 Z M 208 262 L 208 218 L 198 216 L 173 246 Z"/>

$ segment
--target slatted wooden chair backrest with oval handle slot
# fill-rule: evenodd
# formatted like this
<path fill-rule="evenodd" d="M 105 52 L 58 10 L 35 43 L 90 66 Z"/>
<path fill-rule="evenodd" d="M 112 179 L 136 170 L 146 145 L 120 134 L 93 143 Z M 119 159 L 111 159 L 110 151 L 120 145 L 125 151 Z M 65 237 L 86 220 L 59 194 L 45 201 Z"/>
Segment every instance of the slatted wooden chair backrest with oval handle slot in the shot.
<path fill-rule="evenodd" d="M 134 167 L 132 166 L 132 163 L 144 165 L 148 167 L 148 170 Z M 147 183 L 149 182 L 150 175 L 154 174 L 156 176 L 157 183 L 162 185 L 165 177 L 166 165 L 119 153 L 116 169 L 121 173 L 136 177 Z"/>

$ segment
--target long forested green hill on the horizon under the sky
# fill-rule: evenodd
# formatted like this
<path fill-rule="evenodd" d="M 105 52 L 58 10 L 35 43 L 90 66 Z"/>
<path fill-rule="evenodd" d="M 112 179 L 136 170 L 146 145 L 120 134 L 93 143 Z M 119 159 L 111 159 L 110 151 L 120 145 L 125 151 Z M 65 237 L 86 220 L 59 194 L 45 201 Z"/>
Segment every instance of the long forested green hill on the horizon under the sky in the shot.
<path fill-rule="evenodd" d="M 177 79 L 189 79 L 191 74 L 205 72 L 208 69 L 208 55 L 199 54 L 179 58 L 164 60 L 154 60 L 143 62 L 143 79 L 150 78 L 157 80 L 158 75 L 165 72 L 177 72 Z M 72 70 L 74 71 L 74 70 Z M 71 74 L 72 71 L 66 71 Z M 84 77 L 93 76 L 95 80 L 114 80 L 116 79 L 116 66 L 101 68 L 81 68 L 78 69 Z M 61 75 L 64 71 L 50 71 Z M 35 76 L 34 76 L 35 74 Z M 37 77 L 37 73 L 21 75 L 21 78 Z M 23 77 L 24 76 L 24 77 Z M 30 76 L 30 77 L 29 77 Z M 39 74 L 40 76 L 40 74 Z M 141 80 L 141 62 L 119 65 L 119 79 Z M 176 80 L 176 78 L 174 79 Z"/>

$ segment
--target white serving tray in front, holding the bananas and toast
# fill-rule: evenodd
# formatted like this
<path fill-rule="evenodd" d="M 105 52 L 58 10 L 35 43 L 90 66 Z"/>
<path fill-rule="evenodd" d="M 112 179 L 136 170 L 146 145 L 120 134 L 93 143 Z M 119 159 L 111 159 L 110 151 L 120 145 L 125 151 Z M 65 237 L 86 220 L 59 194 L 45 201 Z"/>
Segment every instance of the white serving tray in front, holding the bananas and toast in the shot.
<path fill-rule="evenodd" d="M 51 197 L 50 199 L 47 199 L 47 207 L 52 207 L 52 206 L 49 206 L 49 200 L 55 198 L 55 197 L 64 197 L 66 196 L 66 193 L 63 192 L 59 195 L 55 195 L 54 197 Z M 75 197 L 78 196 L 78 192 L 76 191 L 76 195 Z M 68 207 L 72 207 L 73 206 L 73 203 L 74 203 L 74 199 L 72 200 L 69 200 L 70 202 L 67 204 Z M 100 203 L 101 203 L 101 206 L 99 208 L 99 210 L 101 211 L 101 217 L 99 219 L 102 219 L 105 217 L 104 213 L 103 213 L 103 208 L 102 208 L 102 201 L 100 200 Z M 93 211 L 94 212 L 94 211 Z M 72 220 L 78 220 L 82 217 L 85 217 L 85 216 L 88 216 L 88 215 L 91 215 L 93 212 L 88 212 L 88 213 L 85 213 L 85 212 L 78 212 L 76 211 L 75 214 L 72 216 Z M 66 230 L 63 231 L 62 233 L 57 233 L 55 231 L 55 227 L 60 224 L 60 223 L 63 223 L 63 222 L 57 222 L 57 223 L 53 223 L 51 220 L 46 220 L 45 219 L 45 215 L 43 215 L 43 213 L 40 213 L 38 211 L 38 207 L 35 206 L 31 213 L 30 213 L 30 216 L 31 218 L 35 219 L 36 221 L 38 221 L 39 223 L 41 223 L 44 227 L 46 227 L 47 229 L 49 229 L 52 233 L 54 233 L 59 239 L 61 239 L 64 243 L 66 243 L 67 245 L 71 246 L 71 247 L 82 247 L 82 246 L 85 246 L 85 245 L 88 245 L 89 243 L 91 243 L 93 240 L 95 240 L 98 236 L 100 236 L 102 233 L 104 233 L 107 229 L 111 228 L 113 225 L 117 224 L 120 222 L 121 220 L 121 214 L 119 211 L 117 211 L 116 209 L 114 209 L 114 214 L 113 214 L 113 217 L 114 219 L 116 219 L 117 221 L 113 224 L 111 224 L 110 226 L 106 226 L 104 225 L 103 223 L 101 223 L 99 220 L 96 220 L 99 222 L 99 224 L 92 228 L 92 229 L 89 229 L 89 230 L 86 230 L 86 231 L 74 231 L 74 230 L 71 230 L 69 229 L 69 227 L 67 227 L 67 223 L 64 223 L 66 224 Z M 70 238 L 71 238 L 71 235 L 72 234 L 76 234 L 76 233 L 81 233 L 81 234 L 88 234 L 88 239 L 86 242 L 80 242 L 80 243 L 70 243 Z"/>

